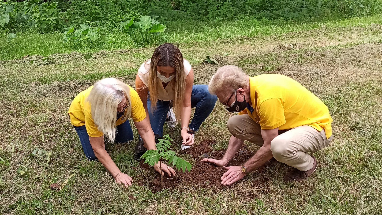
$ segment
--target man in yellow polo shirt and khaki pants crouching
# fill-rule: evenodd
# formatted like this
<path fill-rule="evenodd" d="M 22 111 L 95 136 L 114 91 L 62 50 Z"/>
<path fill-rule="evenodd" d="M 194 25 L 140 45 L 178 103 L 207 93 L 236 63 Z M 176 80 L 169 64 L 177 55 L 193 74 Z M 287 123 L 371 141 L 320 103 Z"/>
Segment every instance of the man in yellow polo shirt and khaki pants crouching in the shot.
<path fill-rule="evenodd" d="M 316 158 L 310 154 L 333 139 L 333 120 L 325 104 L 300 83 L 280 74 L 249 77 L 227 65 L 212 76 L 209 91 L 227 111 L 239 112 L 228 120 L 232 136 L 224 157 L 201 160 L 227 169 L 223 185 L 235 183 L 272 157 L 294 168 L 285 181 L 301 181 L 316 170 Z M 226 166 L 244 140 L 261 148 L 243 165 Z"/>

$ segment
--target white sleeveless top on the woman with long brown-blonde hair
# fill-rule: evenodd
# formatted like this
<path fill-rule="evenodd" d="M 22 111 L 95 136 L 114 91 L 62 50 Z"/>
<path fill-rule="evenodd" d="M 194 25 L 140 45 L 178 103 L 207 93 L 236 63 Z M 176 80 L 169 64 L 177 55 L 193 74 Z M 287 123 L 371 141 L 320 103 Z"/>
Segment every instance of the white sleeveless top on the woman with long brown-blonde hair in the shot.
<path fill-rule="evenodd" d="M 148 80 L 149 80 L 149 76 L 148 75 L 149 75 L 150 62 L 151 62 L 151 59 L 147 60 L 146 63 L 143 62 L 141 67 L 139 67 L 139 69 L 138 69 L 138 76 L 139 76 L 139 78 L 141 78 L 142 82 L 146 86 L 147 86 L 147 83 L 148 83 Z M 184 64 L 184 68 L 185 68 L 185 74 L 186 74 L 186 77 L 187 77 L 188 73 L 191 70 L 191 64 L 186 59 L 183 59 L 183 64 Z M 175 98 L 175 89 L 172 87 L 174 81 L 175 81 L 175 79 L 173 79 L 170 82 L 168 82 L 166 88 L 164 88 L 163 84 L 162 84 L 162 81 L 158 78 L 158 81 L 157 81 L 158 96 L 157 96 L 157 98 L 159 100 L 162 100 L 162 101 L 171 101 L 171 100 L 174 100 L 174 98 Z"/>

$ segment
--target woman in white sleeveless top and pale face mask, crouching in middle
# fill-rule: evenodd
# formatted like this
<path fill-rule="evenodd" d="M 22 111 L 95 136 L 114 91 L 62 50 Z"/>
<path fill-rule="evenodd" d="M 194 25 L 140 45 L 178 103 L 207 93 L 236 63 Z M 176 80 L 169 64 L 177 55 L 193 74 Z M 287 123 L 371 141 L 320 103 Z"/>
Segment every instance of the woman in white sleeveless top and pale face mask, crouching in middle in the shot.
<path fill-rule="evenodd" d="M 168 111 L 174 107 L 175 117 L 181 122 L 181 149 L 194 144 L 194 132 L 215 107 L 217 97 L 208 92 L 207 85 L 194 85 L 193 68 L 178 47 L 171 43 L 157 47 L 138 69 L 136 90 L 150 117 L 152 130 L 163 135 Z M 195 109 L 191 118 L 191 108 Z"/>

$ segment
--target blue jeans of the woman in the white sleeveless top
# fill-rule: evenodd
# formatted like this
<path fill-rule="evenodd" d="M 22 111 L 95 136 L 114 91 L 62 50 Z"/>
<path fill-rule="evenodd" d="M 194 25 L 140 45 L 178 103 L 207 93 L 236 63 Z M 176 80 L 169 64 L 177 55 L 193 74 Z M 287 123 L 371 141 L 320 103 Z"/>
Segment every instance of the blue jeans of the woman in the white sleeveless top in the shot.
<path fill-rule="evenodd" d="M 215 107 L 217 100 L 216 95 L 212 95 L 208 91 L 207 85 L 193 85 L 191 93 L 191 108 L 195 108 L 194 117 L 189 124 L 191 130 L 197 131 L 210 115 Z M 151 128 L 154 134 L 163 136 L 163 125 L 167 118 L 167 112 L 172 108 L 172 101 L 158 100 L 157 107 L 154 112 L 151 111 L 151 101 L 147 99 L 147 109 L 149 110 L 149 117 Z"/>

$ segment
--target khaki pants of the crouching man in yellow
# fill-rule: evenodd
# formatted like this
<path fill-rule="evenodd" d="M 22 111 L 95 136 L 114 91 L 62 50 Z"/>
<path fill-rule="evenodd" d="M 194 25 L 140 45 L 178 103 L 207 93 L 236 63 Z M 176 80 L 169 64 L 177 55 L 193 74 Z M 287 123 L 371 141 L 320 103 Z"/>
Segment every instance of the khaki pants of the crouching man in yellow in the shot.
<path fill-rule="evenodd" d="M 248 114 L 232 116 L 227 122 L 227 127 L 236 138 L 247 140 L 258 146 L 264 143 L 260 125 Z M 270 148 L 276 160 L 306 171 L 313 168 L 313 158 L 309 153 L 324 148 L 332 139 L 333 136 L 326 138 L 324 129 L 319 132 L 309 125 L 303 125 L 291 130 L 279 130 L 278 136 L 270 143 Z"/>

